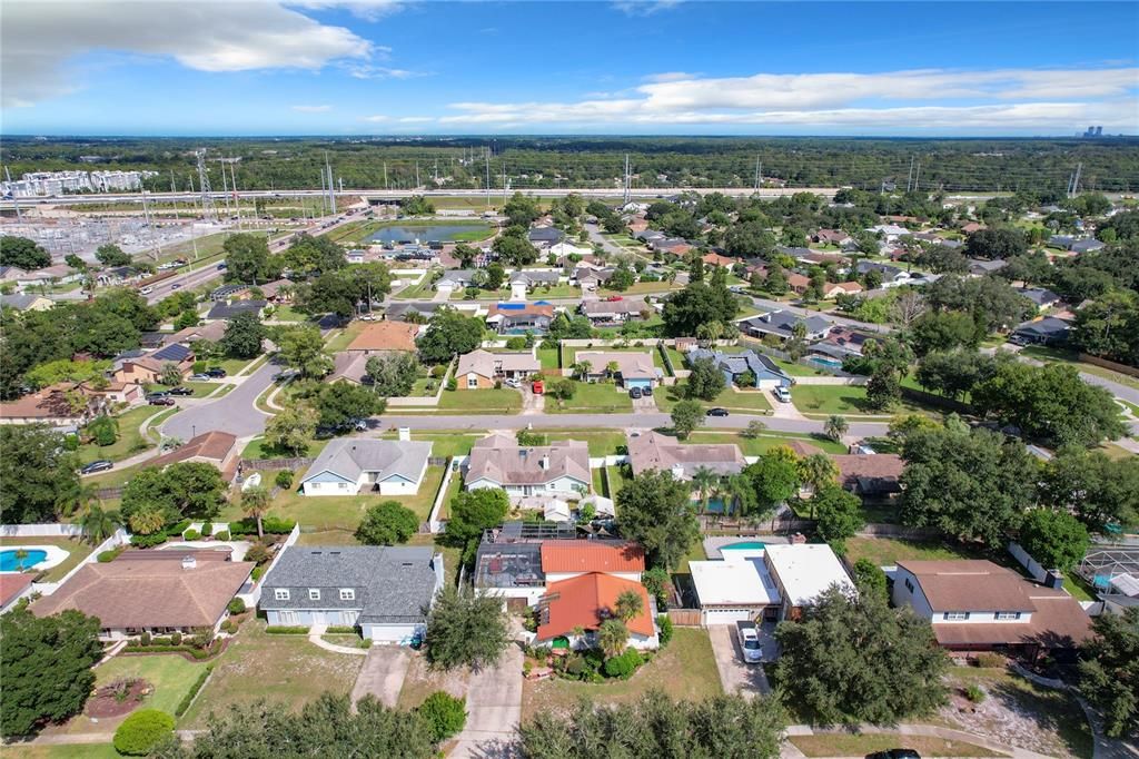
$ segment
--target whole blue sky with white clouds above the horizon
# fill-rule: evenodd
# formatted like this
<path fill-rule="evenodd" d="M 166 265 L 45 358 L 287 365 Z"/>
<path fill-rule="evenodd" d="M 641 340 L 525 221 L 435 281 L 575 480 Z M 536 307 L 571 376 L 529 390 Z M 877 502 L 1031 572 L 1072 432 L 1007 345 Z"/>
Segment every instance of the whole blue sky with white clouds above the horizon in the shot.
<path fill-rule="evenodd" d="M 3 134 L 1139 133 L 1136 2 L 5 0 Z"/>

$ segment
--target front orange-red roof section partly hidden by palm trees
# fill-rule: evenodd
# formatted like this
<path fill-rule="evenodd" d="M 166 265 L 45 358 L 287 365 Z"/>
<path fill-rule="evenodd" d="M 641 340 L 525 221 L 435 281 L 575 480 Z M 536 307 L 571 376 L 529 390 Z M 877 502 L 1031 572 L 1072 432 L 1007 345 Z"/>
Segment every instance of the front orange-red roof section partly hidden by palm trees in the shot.
<path fill-rule="evenodd" d="M 544 557 L 543 545 L 542 558 Z M 592 572 L 547 586 L 543 622 L 538 627 L 538 639 L 549 640 L 570 635 L 575 627 L 596 630 L 606 619 L 616 617 L 617 597 L 626 590 L 641 597 L 641 611 L 625 622 L 625 627 L 630 632 L 652 637 L 656 628 L 645 586 L 612 574 Z"/>

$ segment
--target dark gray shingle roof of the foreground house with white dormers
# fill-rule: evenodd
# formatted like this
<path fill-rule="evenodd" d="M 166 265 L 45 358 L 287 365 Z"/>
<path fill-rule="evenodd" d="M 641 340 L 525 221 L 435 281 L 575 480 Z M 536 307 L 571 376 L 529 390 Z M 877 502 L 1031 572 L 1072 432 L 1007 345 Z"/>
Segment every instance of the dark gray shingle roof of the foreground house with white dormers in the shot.
<path fill-rule="evenodd" d="M 423 622 L 441 576 L 434 561 L 420 546 L 289 546 L 265 578 L 261 607 L 358 609 L 362 623 Z M 278 588 L 288 589 L 287 601 L 277 599 Z M 320 590 L 319 599 L 309 597 L 310 588 Z M 355 598 L 342 601 L 341 588 L 352 588 Z"/>

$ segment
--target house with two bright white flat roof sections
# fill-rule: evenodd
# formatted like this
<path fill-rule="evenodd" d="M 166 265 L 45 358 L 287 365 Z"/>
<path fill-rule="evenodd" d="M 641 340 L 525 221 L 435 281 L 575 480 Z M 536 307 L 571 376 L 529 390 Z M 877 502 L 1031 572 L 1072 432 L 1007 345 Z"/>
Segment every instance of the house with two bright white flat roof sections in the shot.
<path fill-rule="evenodd" d="M 722 560 L 689 562 L 700 622 L 795 620 L 831 586 L 854 594 L 854 583 L 826 544 L 768 544 L 721 552 Z"/>

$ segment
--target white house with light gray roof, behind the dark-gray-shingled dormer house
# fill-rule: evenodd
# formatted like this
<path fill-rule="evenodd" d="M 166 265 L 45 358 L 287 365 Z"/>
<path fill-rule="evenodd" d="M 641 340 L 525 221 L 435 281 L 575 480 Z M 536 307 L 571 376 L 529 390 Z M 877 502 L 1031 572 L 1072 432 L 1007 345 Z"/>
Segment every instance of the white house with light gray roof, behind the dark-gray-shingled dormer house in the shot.
<path fill-rule="evenodd" d="M 431 442 L 337 438 L 320 451 L 301 480 L 305 496 L 413 496 L 419 492 Z"/>

